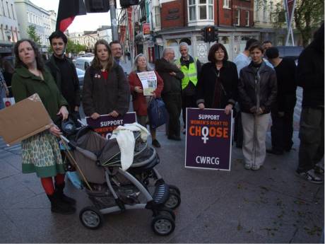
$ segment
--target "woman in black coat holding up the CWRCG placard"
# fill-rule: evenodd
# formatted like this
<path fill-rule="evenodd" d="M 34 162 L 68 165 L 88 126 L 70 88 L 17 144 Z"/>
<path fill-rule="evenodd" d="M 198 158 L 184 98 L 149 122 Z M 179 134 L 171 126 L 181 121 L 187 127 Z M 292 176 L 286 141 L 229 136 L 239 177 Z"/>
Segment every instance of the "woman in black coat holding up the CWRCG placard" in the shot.
<path fill-rule="evenodd" d="M 196 104 L 199 108 L 225 109 L 229 114 L 237 100 L 238 74 L 236 64 L 228 61 L 225 46 L 216 43 L 208 52 L 197 84 Z"/>

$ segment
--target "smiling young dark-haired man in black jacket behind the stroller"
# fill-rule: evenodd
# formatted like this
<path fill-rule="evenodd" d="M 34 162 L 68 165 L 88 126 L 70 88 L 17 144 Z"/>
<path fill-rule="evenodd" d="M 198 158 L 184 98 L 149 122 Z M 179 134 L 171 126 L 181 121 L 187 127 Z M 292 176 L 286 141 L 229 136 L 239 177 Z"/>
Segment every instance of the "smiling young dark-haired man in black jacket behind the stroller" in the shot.
<path fill-rule="evenodd" d="M 70 115 L 73 115 L 73 119 L 76 120 L 79 117 L 80 106 L 79 80 L 76 67 L 71 59 L 64 55 L 66 42 L 68 42 L 68 39 L 60 30 L 55 31 L 49 36 L 53 55 L 46 65 L 49 67 L 59 91 L 61 91 L 69 103 Z"/>

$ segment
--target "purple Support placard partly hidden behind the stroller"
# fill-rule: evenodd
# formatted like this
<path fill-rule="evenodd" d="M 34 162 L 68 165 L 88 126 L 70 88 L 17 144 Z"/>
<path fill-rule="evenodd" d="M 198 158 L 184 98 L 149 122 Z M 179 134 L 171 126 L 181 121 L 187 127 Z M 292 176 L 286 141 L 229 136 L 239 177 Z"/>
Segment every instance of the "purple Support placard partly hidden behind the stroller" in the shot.
<path fill-rule="evenodd" d="M 132 124 L 136 122 L 136 112 L 126 112 L 122 117 L 112 117 L 112 115 L 100 115 L 97 120 L 93 120 L 91 117 L 85 117 L 87 124 L 92 127 L 95 132 L 110 139 L 112 132 L 119 125 Z"/>

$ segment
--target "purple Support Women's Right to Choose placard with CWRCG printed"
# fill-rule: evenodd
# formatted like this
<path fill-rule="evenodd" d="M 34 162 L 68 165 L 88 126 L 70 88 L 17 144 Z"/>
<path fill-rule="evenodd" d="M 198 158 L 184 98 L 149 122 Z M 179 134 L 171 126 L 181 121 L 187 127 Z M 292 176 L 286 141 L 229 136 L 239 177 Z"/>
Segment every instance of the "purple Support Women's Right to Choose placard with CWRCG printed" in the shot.
<path fill-rule="evenodd" d="M 230 170 L 232 114 L 187 108 L 185 167 Z"/>

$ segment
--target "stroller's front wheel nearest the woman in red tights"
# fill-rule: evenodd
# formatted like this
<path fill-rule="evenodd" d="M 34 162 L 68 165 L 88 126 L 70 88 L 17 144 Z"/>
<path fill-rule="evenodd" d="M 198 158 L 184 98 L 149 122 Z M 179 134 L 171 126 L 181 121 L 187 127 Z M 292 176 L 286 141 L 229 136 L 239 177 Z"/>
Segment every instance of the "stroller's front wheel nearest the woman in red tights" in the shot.
<path fill-rule="evenodd" d="M 79 219 L 83 226 L 90 229 L 97 229 L 102 226 L 102 214 L 95 207 L 85 207 L 79 213 Z"/>

